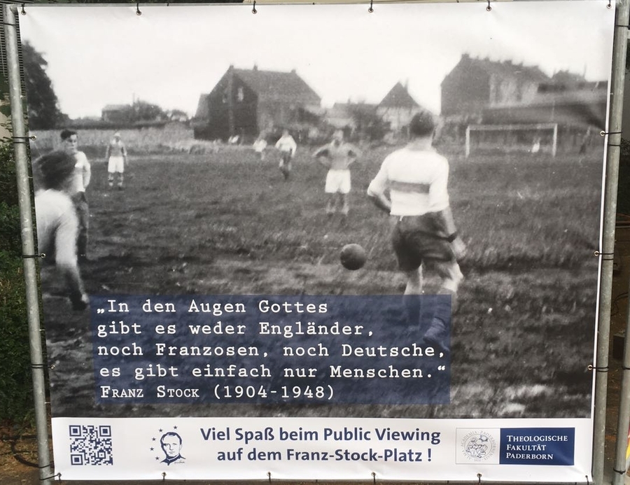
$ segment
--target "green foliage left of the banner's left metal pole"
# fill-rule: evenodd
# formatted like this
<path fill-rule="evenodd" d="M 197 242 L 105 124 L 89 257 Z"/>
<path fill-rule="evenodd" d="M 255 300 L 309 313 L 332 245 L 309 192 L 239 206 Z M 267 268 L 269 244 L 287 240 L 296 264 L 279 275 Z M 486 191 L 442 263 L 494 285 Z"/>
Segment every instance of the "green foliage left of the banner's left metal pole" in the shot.
<path fill-rule="evenodd" d="M 32 408 L 29 332 L 20 216 L 10 143 L 0 144 L 0 421 L 22 421 Z"/>

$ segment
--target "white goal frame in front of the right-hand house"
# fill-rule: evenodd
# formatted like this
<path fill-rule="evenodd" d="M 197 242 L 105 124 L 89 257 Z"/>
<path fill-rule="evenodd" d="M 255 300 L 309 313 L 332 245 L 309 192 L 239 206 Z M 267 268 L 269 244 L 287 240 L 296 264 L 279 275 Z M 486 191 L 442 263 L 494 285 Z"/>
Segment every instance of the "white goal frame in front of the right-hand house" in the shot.
<path fill-rule="evenodd" d="M 558 124 L 468 125 L 466 157 L 474 152 L 550 153 L 558 150 Z"/>

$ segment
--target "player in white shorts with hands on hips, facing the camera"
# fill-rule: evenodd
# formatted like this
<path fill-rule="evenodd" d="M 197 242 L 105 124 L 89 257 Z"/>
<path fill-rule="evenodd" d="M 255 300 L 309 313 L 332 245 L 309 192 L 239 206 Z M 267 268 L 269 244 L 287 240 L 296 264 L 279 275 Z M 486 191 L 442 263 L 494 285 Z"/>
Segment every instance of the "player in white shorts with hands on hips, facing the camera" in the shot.
<path fill-rule="evenodd" d="M 345 143 L 343 130 L 337 129 L 332 134 L 332 141 L 318 148 L 313 157 L 328 168 L 324 188 L 328 194 L 326 213 L 328 215 L 335 213 L 339 201 L 342 214 L 347 216 L 350 210 L 348 200 L 351 189 L 350 166 L 360 157 L 360 151 L 351 143 Z"/>

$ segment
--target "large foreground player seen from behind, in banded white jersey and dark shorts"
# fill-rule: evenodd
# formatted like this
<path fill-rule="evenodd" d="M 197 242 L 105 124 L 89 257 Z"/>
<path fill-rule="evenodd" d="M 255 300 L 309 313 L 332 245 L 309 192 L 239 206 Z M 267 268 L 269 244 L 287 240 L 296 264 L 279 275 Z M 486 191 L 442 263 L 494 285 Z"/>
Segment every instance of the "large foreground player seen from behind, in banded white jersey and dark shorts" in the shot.
<path fill-rule="evenodd" d="M 393 249 L 407 276 L 405 295 L 423 293 L 425 267 L 440 276 L 439 293 L 451 295 L 454 308 L 463 280 L 457 261 L 465 255 L 466 246 L 457 234 L 449 206 L 449 162 L 433 148 L 434 132 L 433 115 L 426 111 L 414 115 L 409 122 L 409 143 L 385 158 L 367 195 L 391 214 Z M 445 351 L 449 311 L 438 303 L 424 335 L 426 342 Z"/>

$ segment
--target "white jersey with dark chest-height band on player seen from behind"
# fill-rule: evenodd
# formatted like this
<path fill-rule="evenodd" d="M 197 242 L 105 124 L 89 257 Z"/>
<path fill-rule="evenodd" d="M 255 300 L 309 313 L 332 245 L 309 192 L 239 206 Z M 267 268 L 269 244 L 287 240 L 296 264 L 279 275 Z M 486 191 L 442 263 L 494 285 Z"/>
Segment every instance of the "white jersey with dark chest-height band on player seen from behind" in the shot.
<path fill-rule="evenodd" d="M 393 216 L 421 216 L 449 206 L 449 162 L 433 148 L 405 147 L 388 155 L 367 188 L 368 193 L 389 189 Z"/>

